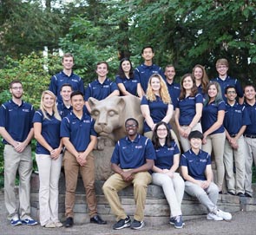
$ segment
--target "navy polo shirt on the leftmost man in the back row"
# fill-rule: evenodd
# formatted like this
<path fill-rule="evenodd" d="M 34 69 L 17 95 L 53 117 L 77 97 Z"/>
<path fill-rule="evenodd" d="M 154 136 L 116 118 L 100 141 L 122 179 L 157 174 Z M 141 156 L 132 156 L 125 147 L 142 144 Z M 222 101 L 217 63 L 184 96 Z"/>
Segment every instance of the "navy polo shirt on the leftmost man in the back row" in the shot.
<path fill-rule="evenodd" d="M 78 75 L 75 75 L 73 72 L 71 75 L 66 75 L 63 71 L 53 75 L 49 83 L 49 90 L 56 95 L 57 101 L 62 102 L 61 88 L 64 83 L 69 83 L 73 90 L 80 90 L 84 94 L 84 85 L 82 78 Z"/>

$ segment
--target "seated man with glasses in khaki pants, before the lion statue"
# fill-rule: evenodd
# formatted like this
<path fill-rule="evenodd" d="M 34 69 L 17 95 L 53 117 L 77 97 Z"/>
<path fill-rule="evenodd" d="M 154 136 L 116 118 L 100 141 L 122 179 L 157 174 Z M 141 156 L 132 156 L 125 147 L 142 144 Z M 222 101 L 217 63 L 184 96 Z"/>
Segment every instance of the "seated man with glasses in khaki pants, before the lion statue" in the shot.
<path fill-rule="evenodd" d="M 151 175 L 148 173 L 154 166 L 154 147 L 148 138 L 138 134 L 139 123 L 134 118 L 125 121 L 128 136 L 119 140 L 111 158 L 111 168 L 115 174 L 111 175 L 102 186 L 103 193 L 116 216 L 117 222 L 113 229 L 122 229 L 131 226 L 132 229 L 141 229 L 145 226 L 144 207 L 148 184 Z M 136 211 L 132 223 L 121 206 L 118 192 L 131 184 L 134 185 Z"/>

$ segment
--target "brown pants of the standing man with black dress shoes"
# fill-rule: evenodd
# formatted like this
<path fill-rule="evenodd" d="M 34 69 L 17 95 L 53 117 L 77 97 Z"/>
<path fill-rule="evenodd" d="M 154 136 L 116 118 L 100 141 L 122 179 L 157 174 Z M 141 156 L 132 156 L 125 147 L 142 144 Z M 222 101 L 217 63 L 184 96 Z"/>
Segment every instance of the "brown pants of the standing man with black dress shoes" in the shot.
<path fill-rule="evenodd" d="M 83 186 L 86 191 L 86 201 L 89 208 L 89 217 L 97 214 L 97 202 L 95 196 L 95 160 L 92 153 L 87 157 L 85 166 L 80 166 L 76 161 L 75 156 L 69 151 L 64 153 L 64 170 L 66 180 L 66 213 L 65 216 L 74 217 L 73 208 L 75 206 L 75 189 L 77 185 L 77 177 L 80 171 L 83 181 Z"/>

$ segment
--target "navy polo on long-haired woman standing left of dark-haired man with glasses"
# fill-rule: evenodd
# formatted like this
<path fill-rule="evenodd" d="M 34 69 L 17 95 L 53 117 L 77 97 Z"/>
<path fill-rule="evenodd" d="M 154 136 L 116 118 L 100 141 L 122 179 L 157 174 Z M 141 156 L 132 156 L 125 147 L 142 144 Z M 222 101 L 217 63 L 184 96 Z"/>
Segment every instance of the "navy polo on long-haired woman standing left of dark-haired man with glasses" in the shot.
<path fill-rule="evenodd" d="M 225 101 L 220 101 L 218 104 L 213 101 L 204 105 L 201 117 L 201 126 L 203 133 L 206 132 L 207 129 L 212 127 L 213 124 L 218 120 L 218 112 L 225 109 Z M 211 134 L 218 134 L 223 132 L 225 132 L 225 128 L 222 124 L 217 130 L 213 131 L 213 133 Z"/>

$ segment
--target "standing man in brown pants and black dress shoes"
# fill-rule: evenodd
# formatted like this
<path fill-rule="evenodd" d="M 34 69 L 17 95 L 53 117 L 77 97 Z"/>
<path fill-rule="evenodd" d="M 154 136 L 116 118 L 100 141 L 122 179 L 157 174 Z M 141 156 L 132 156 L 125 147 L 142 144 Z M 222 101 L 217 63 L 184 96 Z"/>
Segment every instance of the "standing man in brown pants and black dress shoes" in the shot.
<path fill-rule="evenodd" d="M 97 214 L 95 197 L 95 162 L 92 151 L 97 141 L 95 133 L 95 121 L 83 112 L 83 95 L 80 91 L 74 91 L 71 96 L 71 111 L 61 124 L 61 137 L 66 147 L 63 162 L 66 180 L 66 222 L 65 227 L 74 224 L 75 189 L 78 172 L 82 176 L 86 190 L 86 201 L 89 208 L 90 222 L 105 225 L 106 221 Z"/>

